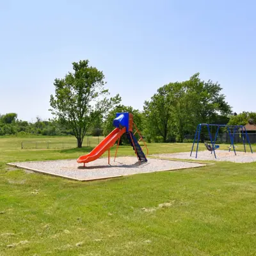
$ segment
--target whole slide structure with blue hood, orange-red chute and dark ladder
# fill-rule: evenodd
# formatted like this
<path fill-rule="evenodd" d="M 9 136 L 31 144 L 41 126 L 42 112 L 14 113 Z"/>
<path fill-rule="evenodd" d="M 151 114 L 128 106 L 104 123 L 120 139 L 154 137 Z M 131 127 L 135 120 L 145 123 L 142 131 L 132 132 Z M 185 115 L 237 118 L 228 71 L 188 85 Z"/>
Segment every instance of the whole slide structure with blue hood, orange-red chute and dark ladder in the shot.
<path fill-rule="evenodd" d="M 129 140 L 129 143 L 131 144 L 133 150 L 135 151 L 136 156 L 138 157 L 138 161 L 144 161 L 147 162 L 147 158 L 143 152 L 143 148 L 147 149 L 147 155 L 148 155 L 148 148 L 143 140 L 143 137 L 141 136 L 140 131 L 138 131 L 136 124 L 133 122 L 133 115 L 131 113 L 116 113 L 116 118 L 113 120 L 113 126 L 116 127 L 112 132 L 102 140 L 97 147 L 93 148 L 93 150 L 85 155 L 81 156 L 77 159 L 77 163 L 89 163 L 92 162 L 96 159 L 98 159 L 106 150 L 108 150 L 108 163 L 110 159 L 110 148 L 113 147 L 113 145 L 116 143 L 118 140 L 118 144 L 116 147 L 116 152 L 115 152 L 115 159 L 116 159 L 116 154 L 118 150 L 118 146 L 120 143 L 120 138 L 122 135 L 125 134 L 127 136 L 127 139 Z M 133 130 L 136 130 L 133 132 Z M 140 137 L 139 140 L 136 139 L 135 134 L 138 134 Z M 144 147 L 141 148 L 139 142 L 143 141 Z M 115 161 L 114 159 L 114 161 Z"/>

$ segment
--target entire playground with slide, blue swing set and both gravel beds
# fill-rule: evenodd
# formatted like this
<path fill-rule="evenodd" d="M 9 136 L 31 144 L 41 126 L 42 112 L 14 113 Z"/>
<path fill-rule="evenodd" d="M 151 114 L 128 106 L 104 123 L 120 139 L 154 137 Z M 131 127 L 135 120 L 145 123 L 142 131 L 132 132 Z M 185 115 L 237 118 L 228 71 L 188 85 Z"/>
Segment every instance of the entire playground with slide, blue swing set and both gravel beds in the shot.
<path fill-rule="evenodd" d="M 253 154 L 252 145 L 250 144 L 247 131 L 243 125 L 198 124 L 190 155 L 188 152 L 153 154 L 149 161 L 147 158 L 147 144 L 143 140 L 143 136 L 136 127 L 136 124 L 134 124 L 133 115 L 131 113 L 116 113 L 116 118 L 113 120 L 113 126 L 115 129 L 110 132 L 104 140 L 100 141 L 99 145 L 93 148 L 89 154 L 80 156 L 77 160 L 30 161 L 23 163 L 8 163 L 8 165 L 67 179 L 89 181 L 111 179 L 138 173 L 163 172 L 205 166 L 205 163 L 193 163 L 192 161 L 182 161 L 182 159 L 229 161 L 234 163 L 252 163 L 256 161 L 256 155 Z M 211 144 L 204 143 L 207 150 L 201 151 L 199 154 L 198 146 L 200 143 L 200 134 L 202 132 L 202 127 L 204 126 L 207 127 Z M 216 127 L 214 135 L 210 131 L 210 127 Z M 218 132 L 221 127 L 225 127 L 228 131 L 227 134 L 230 139 L 230 147 L 228 147 L 228 150 L 221 150 L 220 145 L 216 144 Z M 234 134 L 238 129 L 241 129 L 244 152 L 237 151 L 236 146 L 234 145 Z M 137 136 L 135 136 L 135 134 L 137 134 Z M 136 157 L 116 157 L 122 136 L 127 137 Z M 141 145 L 140 141 L 143 145 Z M 246 141 L 250 150 L 247 153 Z M 115 143 L 117 143 L 115 157 L 111 159 L 110 149 Z M 196 150 L 193 152 L 195 145 Z M 145 150 L 147 152 L 146 154 Z M 99 159 L 105 152 L 108 152 L 108 158 Z M 157 157 L 158 159 L 154 159 L 154 157 Z M 172 159 L 180 159 L 180 161 L 172 161 Z M 83 166 L 81 166 L 81 164 L 83 164 Z"/>

